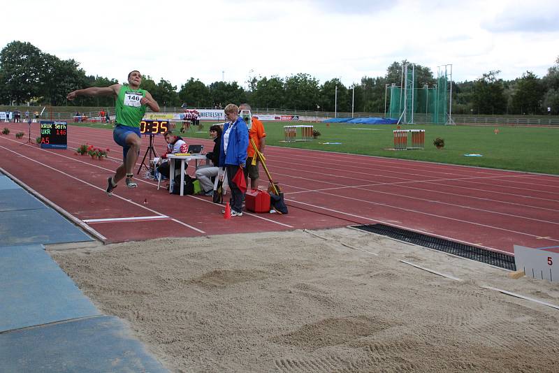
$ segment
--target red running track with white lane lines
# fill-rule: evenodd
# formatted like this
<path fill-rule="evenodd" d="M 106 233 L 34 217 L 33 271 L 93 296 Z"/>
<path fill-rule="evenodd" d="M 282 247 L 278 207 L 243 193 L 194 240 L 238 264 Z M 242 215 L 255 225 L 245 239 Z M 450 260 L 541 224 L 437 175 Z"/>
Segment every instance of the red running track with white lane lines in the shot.
<path fill-rule="evenodd" d="M 27 134 L 27 124 L 6 126 Z M 210 140 L 186 140 L 212 148 Z M 115 196 L 106 196 L 107 177 L 122 156 L 108 129 L 69 126 L 67 150 L 39 149 L 26 141 L 0 136 L 0 166 L 87 221 L 106 242 L 382 223 L 507 253 L 514 244 L 559 247 L 554 175 L 268 146 L 266 164 L 284 189 L 289 214 L 225 220 L 210 197 L 169 195 L 142 177 L 137 189 L 121 182 Z M 110 148 L 109 159 L 76 155 L 85 142 Z M 138 163 L 147 142 L 144 138 Z M 155 137 L 155 147 L 163 151 L 162 136 Z"/>

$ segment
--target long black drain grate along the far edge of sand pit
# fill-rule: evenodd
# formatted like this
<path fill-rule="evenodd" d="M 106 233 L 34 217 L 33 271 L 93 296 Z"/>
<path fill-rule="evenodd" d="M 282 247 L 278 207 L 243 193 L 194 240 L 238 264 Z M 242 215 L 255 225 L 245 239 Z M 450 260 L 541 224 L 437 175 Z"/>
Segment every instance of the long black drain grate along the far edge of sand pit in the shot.
<path fill-rule="evenodd" d="M 463 258 L 472 259 L 481 263 L 495 265 L 495 267 L 505 268 L 507 270 L 516 270 L 514 256 L 497 253 L 495 251 L 480 249 L 467 244 L 460 244 L 444 238 L 423 235 L 405 229 L 386 226 L 384 224 L 369 224 L 366 226 L 353 226 L 353 228 L 361 229 L 361 231 L 377 233 L 377 235 L 386 235 L 396 240 L 418 244 L 419 246 L 428 247 L 444 251 L 445 253 L 461 256 Z"/>

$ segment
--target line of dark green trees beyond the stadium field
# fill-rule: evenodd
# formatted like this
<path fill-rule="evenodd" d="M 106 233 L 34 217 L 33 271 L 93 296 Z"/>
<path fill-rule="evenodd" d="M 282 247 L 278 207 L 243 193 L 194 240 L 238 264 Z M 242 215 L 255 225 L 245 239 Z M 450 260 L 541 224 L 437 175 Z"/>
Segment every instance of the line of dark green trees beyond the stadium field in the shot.
<path fill-rule="evenodd" d="M 141 88 L 147 89 L 161 106 L 187 105 L 194 108 L 221 108 L 227 103 L 249 102 L 254 108 L 384 113 L 386 87 L 400 85 L 402 65 L 394 61 L 379 77 L 364 76 L 361 82 L 344 86 L 340 79 L 319 82 L 307 73 L 288 77 L 252 76 L 245 87 L 238 82 L 212 82 L 205 85 L 190 78 L 177 89 L 168 80 L 155 82 L 150 75 Z M 539 78 L 526 71 L 520 78 L 502 80 L 500 71 L 488 71 L 473 81 L 452 82 L 452 112 L 476 115 L 535 115 L 559 113 L 559 57 Z M 433 87 L 435 76 L 430 68 L 415 65 L 415 87 Z M 110 97 L 80 97 L 66 102 L 66 94 L 74 89 L 107 87 L 118 80 L 87 75 L 74 59 L 59 59 L 42 52 L 31 43 L 13 41 L 0 52 L 0 103 L 38 105 L 113 106 Z M 389 98 L 388 98 L 389 99 Z"/>

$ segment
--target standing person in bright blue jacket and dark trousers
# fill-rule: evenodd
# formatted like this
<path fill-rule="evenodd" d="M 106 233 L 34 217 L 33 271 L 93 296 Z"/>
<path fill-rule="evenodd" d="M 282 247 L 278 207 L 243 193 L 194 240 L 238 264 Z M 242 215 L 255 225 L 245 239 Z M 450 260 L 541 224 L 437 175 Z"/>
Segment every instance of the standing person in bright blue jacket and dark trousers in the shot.
<path fill-rule="evenodd" d="M 247 161 L 247 147 L 249 146 L 249 131 L 247 124 L 239 117 L 239 107 L 230 103 L 225 107 L 225 117 L 228 122 L 224 124 L 222 132 L 221 153 L 219 166 L 225 168 L 229 189 L 231 189 L 231 217 L 242 217 L 242 200 L 245 191 L 241 191 L 233 182 L 233 177 L 240 169 L 245 168 Z"/>

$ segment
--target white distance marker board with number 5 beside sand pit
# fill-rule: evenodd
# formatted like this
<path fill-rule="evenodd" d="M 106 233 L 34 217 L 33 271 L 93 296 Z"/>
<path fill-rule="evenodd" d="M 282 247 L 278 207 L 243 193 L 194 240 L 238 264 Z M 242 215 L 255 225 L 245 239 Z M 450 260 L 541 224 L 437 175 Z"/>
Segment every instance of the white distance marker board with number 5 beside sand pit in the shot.
<path fill-rule="evenodd" d="M 514 245 L 516 270 L 523 270 L 526 276 L 559 282 L 559 253 L 545 251 L 555 247 L 532 247 Z M 558 247 L 559 248 L 559 247 Z"/>

